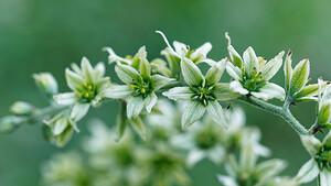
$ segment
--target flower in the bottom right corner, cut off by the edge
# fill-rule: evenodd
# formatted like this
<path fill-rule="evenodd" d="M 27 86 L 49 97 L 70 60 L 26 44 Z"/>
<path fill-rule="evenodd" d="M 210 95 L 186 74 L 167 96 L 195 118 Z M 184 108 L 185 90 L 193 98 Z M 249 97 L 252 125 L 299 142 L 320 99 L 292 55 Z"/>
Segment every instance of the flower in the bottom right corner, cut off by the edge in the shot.
<path fill-rule="evenodd" d="M 323 142 L 313 135 L 301 135 L 301 142 L 311 158 L 300 168 L 296 176 L 297 180 L 305 184 L 319 175 L 320 185 L 329 186 L 331 183 L 331 131 Z"/>

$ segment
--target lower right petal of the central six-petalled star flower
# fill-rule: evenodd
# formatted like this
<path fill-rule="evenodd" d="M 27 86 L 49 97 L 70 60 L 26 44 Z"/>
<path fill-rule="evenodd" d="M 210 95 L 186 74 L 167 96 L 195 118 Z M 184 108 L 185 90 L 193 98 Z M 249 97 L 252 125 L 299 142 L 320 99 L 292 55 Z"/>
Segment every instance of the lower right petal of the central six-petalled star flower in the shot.
<path fill-rule="evenodd" d="M 216 123 L 218 123 L 223 128 L 227 128 L 226 116 L 217 101 L 209 101 L 206 109 Z"/>

